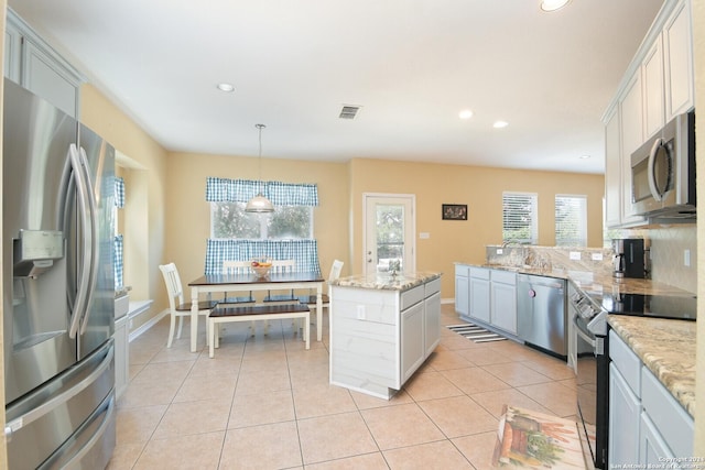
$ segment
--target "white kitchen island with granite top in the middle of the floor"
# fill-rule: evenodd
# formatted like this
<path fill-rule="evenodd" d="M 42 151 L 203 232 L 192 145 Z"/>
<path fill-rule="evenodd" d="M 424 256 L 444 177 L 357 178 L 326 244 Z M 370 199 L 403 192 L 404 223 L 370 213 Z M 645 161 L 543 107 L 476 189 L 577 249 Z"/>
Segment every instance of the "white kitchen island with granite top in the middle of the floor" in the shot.
<path fill-rule="evenodd" d="M 391 398 L 441 340 L 441 274 L 330 283 L 330 383 Z"/>

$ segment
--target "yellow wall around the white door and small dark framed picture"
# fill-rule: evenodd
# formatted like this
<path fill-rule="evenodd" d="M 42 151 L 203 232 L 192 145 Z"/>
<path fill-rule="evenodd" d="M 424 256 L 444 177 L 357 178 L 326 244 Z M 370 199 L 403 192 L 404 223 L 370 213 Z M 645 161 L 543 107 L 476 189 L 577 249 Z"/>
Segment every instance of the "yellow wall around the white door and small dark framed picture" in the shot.
<path fill-rule="evenodd" d="M 482 263 L 485 245 L 502 242 L 502 192 L 539 195 L 539 244 L 553 245 L 556 194 L 587 195 L 588 245 L 603 245 L 603 175 L 357 159 L 350 163 L 352 272 L 362 272 L 362 194 L 416 197 L 416 270 L 443 272 L 441 296 L 455 296 L 456 261 Z M 442 220 L 442 204 L 467 204 L 468 220 Z M 420 232 L 430 233 L 419 239 Z"/>

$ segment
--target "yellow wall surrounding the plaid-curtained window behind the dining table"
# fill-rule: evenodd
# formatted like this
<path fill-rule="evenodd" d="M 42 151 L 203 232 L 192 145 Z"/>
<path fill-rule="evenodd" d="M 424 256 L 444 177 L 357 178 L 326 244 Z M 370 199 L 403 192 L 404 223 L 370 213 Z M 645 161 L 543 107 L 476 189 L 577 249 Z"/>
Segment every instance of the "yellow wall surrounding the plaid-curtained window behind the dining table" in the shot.
<path fill-rule="evenodd" d="M 166 258 L 178 266 L 182 283 L 204 273 L 210 236 L 206 178 L 258 179 L 257 157 L 172 153 L 166 168 Z M 324 275 L 333 260 L 348 262 L 347 164 L 262 159 L 262 179 L 316 183 L 321 205 L 314 209 L 314 237 Z"/>

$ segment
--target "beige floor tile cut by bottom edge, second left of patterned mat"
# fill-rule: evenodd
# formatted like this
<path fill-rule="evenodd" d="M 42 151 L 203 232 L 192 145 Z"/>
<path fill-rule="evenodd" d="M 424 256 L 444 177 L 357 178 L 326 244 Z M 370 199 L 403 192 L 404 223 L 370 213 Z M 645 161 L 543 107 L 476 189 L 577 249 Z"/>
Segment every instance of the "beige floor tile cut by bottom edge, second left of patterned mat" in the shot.
<path fill-rule="evenodd" d="M 392 470 L 473 469 L 465 456 L 447 440 L 384 450 L 382 453 Z"/>

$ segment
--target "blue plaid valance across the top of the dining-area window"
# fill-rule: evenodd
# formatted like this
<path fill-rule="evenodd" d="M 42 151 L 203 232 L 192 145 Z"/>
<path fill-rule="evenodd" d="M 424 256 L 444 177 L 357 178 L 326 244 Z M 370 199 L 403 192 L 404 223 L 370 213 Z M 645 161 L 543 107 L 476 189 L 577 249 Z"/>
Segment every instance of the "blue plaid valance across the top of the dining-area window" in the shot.
<path fill-rule="evenodd" d="M 318 186 L 307 183 L 258 182 L 208 177 L 206 200 L 208 203 L 247 203 L 258 193 L 274 206 L 317 206 Z"/>

